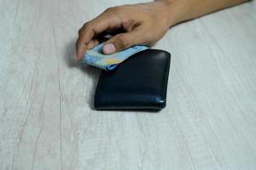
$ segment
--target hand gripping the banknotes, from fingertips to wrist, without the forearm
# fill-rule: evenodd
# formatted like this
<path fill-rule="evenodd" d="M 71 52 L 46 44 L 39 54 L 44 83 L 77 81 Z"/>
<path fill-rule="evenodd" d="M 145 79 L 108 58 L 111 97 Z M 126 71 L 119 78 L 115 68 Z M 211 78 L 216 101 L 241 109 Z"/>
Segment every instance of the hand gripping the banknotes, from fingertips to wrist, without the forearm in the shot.
<path fill-rule="evenodd" d="M 125 30 L 105 42 L 104 54 L 113 54 L 137 44 L 154 44 L 172 25 L 168 17 L 170 9 L 167 7 L 165 2 L 157 1 L 108 8 L 79 30 L 76 43 L 78 59 L 82 58 L 87 49 L 99 43 L 96 36 L 102 31 L 118 28 Z"/>

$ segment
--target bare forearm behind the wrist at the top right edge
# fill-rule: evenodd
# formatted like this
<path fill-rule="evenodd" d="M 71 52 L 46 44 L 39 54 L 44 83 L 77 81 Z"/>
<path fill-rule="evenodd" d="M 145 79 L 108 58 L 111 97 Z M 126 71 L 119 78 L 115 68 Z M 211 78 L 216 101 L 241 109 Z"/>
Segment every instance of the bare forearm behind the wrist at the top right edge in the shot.
<path fill-rule="evenodd" d="M 191 20 L 222 8 L 228 8 L 249 0 L 156 0 L 166 3 L 170 11 L 170 25 L 184 20 Z"/>

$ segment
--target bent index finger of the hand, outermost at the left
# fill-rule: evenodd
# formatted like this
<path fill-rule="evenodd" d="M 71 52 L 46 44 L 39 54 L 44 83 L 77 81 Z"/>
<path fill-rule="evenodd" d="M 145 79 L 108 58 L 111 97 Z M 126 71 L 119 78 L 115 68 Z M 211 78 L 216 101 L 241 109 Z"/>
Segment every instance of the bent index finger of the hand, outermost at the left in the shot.
<path fill-rule="evenodd" d="M 113 11 L 113 9 L 111 10 Z M 84 26 L 79 30 L 79 38 L 76 42 L 78 59 L 82 58 L 83 54 L 88 49 L 89 43 L 91 47 L 91 40 L 96 37 L 97 34 L 101 33 L 102 31 L 121 27 L 121 20 L 119 20 L 119 18 L 113 14 L 111 10 L 108 9 L 96 17 L 96 19 L 85 23 Z"/>

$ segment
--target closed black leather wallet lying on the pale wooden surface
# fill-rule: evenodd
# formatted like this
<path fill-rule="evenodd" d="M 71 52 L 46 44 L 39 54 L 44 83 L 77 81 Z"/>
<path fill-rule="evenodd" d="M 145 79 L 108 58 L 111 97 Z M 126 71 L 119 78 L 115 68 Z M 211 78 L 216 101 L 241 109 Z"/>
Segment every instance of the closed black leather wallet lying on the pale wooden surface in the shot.
<path fill-rule="evenodd" d="M 113 71 L 102 71 L 96 86 L 96 110 L 166 107 L 171 54 L 147 49 L 132 55 Z"/>

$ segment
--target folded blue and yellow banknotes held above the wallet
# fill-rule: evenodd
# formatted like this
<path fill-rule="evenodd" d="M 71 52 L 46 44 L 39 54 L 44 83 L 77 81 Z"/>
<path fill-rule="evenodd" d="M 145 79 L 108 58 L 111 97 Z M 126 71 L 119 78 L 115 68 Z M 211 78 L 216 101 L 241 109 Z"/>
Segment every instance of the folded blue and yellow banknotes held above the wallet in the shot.
<path fill-rule="evenodd" d="M 137 45 L 131 48 L 126 48 L 125 50 L 114 54 L 103 54 L 102 48 L 103 42 L 97 45 L 95 48 L 87 50 L 82 58 L 82 62 L 88 65 L 96 66 L 105 71 L 112 71 L 125 59 L 131 57 L 131 55 L 148 49 L 147 46 Z"/>

